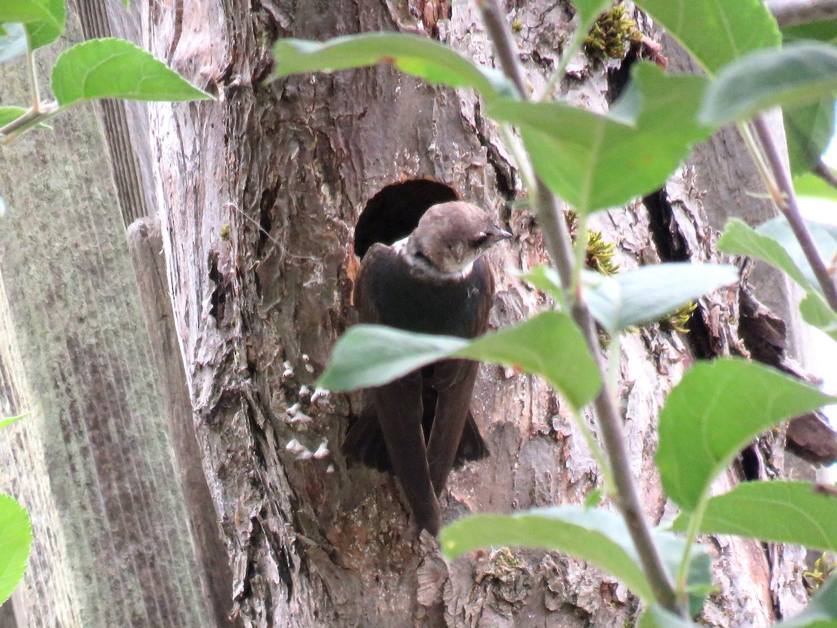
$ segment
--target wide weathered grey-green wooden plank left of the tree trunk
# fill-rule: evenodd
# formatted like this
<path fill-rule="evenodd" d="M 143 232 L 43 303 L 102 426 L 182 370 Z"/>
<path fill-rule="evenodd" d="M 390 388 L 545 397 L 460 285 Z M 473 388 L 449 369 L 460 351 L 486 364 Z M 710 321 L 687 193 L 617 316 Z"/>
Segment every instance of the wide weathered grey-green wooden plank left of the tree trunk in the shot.
<path fill-rule="evenodd" d="M 70 23 L 69 39 L 78 36 Z M 41 51 L 41 76 L 65 45 Z M 23 65 L 5 65 L 3 76 L 0 100 L 26 102 Z M 51 559 L 35 553 L 28 621 L 202 626 L 182 491 L 105 154 L 84 106 L 62 113 L 53 133 L 0 150 L 10 207 L 0 267 L 40 430 L 18 451 L 33 462 L 13 459 L 3 477 L 27 483 L 30 468 L 45 461 L 51 492 L 26 505 L 38 530 L 60 520 L 54 543 L 62 528 L 66 543 L 56 560 L 65 553 L 76 605 L 57 617 L 49 594 L 39 595 L 51 569 L 39 565 Z M 49 533 L 43 543 L 37 552 L 54 551 Z M 58 583 L 54 595 L 63 599 L 65 588 Z"/>

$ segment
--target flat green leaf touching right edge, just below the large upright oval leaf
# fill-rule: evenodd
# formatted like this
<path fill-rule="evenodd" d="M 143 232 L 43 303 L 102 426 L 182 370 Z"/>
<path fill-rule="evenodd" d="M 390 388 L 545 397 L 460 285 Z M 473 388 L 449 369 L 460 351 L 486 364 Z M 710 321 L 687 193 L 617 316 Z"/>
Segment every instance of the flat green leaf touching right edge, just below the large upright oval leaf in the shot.
<path fill-rule="evenodd" d="M 687 514 L 680 515 L 672 529 L 686 532 L 688 522 Z M 815 492 L 809 482 L 743 482 L 711 497 L 700 532 L 837 552 L 837 497 Z"/>

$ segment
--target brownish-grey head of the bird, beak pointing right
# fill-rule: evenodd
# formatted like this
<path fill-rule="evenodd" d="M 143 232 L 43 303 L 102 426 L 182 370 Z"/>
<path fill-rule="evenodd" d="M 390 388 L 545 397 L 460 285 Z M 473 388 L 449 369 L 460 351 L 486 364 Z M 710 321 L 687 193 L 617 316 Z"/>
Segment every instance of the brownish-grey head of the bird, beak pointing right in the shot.
<path fill-rule="evenodd" d="M 407 240 L 407 253 L 445 274 L 467 272 L 480 255 L 511 238 L 476 205 L 451 201 L 429 208 Z"/>

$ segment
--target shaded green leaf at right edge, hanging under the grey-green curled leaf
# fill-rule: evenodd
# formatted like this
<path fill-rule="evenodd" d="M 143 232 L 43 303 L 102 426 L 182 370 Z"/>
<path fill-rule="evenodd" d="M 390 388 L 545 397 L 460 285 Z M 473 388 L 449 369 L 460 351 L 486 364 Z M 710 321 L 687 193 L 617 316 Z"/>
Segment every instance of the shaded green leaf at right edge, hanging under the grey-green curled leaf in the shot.
<path fill-rule="evenodd" d="M 783 111 L 791 172 L 798 177 L 819 166 L 820 157 L 834 136 L 834 96 Z"/>

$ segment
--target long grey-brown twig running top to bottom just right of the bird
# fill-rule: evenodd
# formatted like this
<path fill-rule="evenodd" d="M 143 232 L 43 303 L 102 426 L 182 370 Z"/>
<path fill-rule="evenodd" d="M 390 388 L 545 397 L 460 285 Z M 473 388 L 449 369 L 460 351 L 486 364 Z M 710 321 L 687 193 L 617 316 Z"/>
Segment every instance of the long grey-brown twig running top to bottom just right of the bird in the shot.
<path fill-rule="evenodd" d="M 477 0 L 477 5 L 483 15 L 485 28 L 493 41 L 501 67 L 506 76 L 514 82 L 522 98 L 528 98 L 525 80 L 516 46 L 511 39 L 511 33 L 506 26 L 497 4 L 497 0 Z M 566 221 L 558 208 L 557 200 L 546 184 L 537 178 L 535 191 L 535 206 L 537 219 L 541 224 L 547 250 L 556 266 L 565 292 L 571 291 L 573 286 L 573 244 L 570 239 Z M 568 301 L 573 302 L 574 296 L 567 295 Z M 665 610 L 681 615 L 677 604 L 677 596 L 672 588 L 669 577 L 665 574 L 660 554 L 657 553 L 651 539 L 650 529 L 639 504 L 639 496 L 634 486 L 633 473 L 628 461 L 628 453 L 624 446 L 622 418 L 608 392 L 606 373 L 604 373 L 602 359 L 598 352 L 598 333 L 593 324 L 593 317 L 583 301 L 574 301 L 572 306 L 573 319 L 584 333 L 588 348 L 598 365 L 599 375 L 603 381 L 602 390 L 593 402 L 598 417 L 598 426 L 602 434 L 604 449 L 613 469 L 614 483 L 619 492 L 616 504 L 624 517 L 634 547 L 639 554 L 639 560 L 656 600 Z"/>

